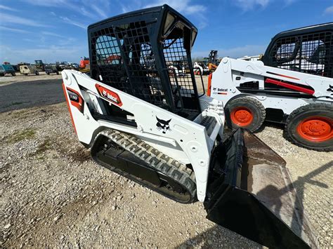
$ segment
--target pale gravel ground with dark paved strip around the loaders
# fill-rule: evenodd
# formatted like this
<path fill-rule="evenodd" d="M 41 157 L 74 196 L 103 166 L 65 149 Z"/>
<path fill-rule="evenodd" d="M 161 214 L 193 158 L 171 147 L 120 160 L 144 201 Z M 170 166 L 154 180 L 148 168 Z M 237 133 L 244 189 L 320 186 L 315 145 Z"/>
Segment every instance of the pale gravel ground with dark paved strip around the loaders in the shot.
<path fill-rule="evenodd" d="M 207 78 L 204 79 L 207 82 Z M 60 76 L 0 78 L 0 247 L 261 248 L 98 166 L 72 128 Z M 287 161 L 322 248 L 332 248 L 333 153 L 257 133 Z"/>

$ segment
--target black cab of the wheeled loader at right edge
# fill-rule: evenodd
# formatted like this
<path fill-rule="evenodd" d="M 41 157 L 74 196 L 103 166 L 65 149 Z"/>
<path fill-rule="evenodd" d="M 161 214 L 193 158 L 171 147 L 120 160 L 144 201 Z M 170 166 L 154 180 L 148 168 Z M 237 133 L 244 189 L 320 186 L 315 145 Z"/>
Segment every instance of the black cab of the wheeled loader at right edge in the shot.
<path fill-rule="evenodd" d="M 275 35 L 261 59 L 270 67 L 333 78 L 333 22 Z"/>

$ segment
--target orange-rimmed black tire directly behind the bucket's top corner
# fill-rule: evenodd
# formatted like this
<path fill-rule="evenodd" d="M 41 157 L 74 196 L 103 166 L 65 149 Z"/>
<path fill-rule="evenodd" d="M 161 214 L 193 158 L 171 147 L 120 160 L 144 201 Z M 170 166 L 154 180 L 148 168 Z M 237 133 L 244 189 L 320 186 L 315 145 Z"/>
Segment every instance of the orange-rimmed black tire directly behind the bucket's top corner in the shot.
<path fill-rule="evenodd" d="M 242 127 L 254 132 L 261 127 L 266 118 L 265 107 L 253 97 L 230 100 L 224 110 L 227 126 L 232 130 Z"/>

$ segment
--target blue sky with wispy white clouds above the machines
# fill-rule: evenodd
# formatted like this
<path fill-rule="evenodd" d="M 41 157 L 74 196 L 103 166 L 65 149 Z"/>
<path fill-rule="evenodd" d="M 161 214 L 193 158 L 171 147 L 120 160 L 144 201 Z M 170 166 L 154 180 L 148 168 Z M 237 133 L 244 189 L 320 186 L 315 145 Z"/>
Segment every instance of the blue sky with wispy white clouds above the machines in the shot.
<path fill-rule="evenodd" d="M 332 0 L 0 0 L 0 62 L 79 62 L 88 25 L 162 4 L 198 27 L 193 57 L 257 55 L 278 32 L 333 21 Z"/>

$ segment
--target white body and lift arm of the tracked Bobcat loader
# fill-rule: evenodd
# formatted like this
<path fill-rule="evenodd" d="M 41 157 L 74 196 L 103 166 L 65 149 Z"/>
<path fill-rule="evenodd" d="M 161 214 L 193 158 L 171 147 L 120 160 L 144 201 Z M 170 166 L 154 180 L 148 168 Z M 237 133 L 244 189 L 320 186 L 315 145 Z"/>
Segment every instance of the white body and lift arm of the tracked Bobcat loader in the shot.
<path fill-rule="evenodd" d="M 200 97 L 200 105 L 204 111 L 194 121 L 190 121 L 95 81 L 81 72 L 64 70 L 62 74 L 65 95 L 79 141 L 91 144 L 94 132 L 103 127 L 136 135 L 177 161 L 190 163 L 195 171 L 197 198 L 204 201 L 211 151 L 216 137 L 223 135 L 225 116 L 221 101 L 203 95 Z M 98 92 L 98 88 L 103 89 L 103 96 Z M 102 100 L 135 114 L 133 119 L 137 123 L 137 128 L 94 119 L 91 109 L 103 114 L 103 105 L 99 105 Z M 209 128 L 200 125 L 205 116 L 215 119 Z M 170 120 L 169 126 L 157 127 L 157 117 Z"/>

